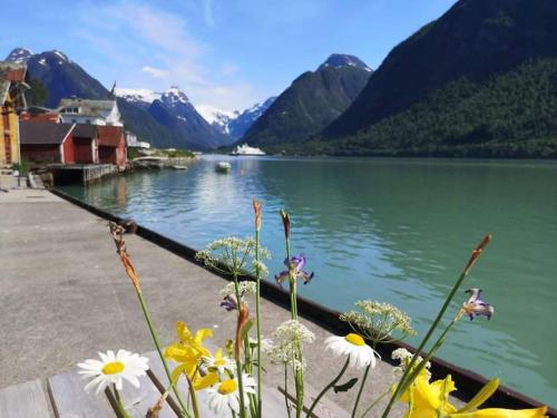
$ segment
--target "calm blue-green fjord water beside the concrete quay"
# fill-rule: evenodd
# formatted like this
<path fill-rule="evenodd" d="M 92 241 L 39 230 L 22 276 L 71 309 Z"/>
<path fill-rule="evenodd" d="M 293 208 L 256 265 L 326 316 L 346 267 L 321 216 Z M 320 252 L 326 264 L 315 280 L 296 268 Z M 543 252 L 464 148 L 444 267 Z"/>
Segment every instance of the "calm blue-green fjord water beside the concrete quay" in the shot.
<path fill-rule="evenodd" d="M 231 173 L 215 173 L 225 159 Z M 315 272 L 304 297 L 341 311 L 361 299 L 392 303 L 420 336 L 490 232 L 462 290 L 482 289 L 495 317 L 463 319 L 438 356 L 557 406 L 556 162 L 204 156 L 187 171 L 63 191 L 196 249 L 252 234 L 256 196 L 271 272 L 283 268 L 284 207 L 293 252 Z M 465 300 L 459 292 L 448 315 Z"/>

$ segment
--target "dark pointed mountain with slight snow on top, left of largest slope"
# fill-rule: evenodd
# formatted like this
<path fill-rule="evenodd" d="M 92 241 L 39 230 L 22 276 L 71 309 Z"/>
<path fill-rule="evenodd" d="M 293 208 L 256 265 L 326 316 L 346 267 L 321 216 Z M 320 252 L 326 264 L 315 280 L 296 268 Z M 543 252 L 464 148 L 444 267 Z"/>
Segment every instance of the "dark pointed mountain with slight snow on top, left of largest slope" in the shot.
<path fill-rule="evenodd" d="M 332 55 L 315 71 L 296 78 L 241 140 L 267 147 L 307 139 L 350 106 L 372 72 L 356 57 Z"/>

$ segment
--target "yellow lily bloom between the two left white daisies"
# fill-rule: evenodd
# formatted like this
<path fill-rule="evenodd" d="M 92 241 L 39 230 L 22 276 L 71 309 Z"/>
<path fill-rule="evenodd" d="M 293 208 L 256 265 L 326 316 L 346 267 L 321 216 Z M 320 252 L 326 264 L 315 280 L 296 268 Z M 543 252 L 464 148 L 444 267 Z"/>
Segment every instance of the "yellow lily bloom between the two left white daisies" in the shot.
<path fill-rule="evenodd" d="M 205 328 L 196 331 L 194 336 L 184 322 L 178 321 L 176 333 L 179 341 L 169 346 L 165 351 L 167 359 L 178 363 L 173 370 L 173 380 L 177 381 L 180 375 L 184 373 L 192 381 L 195 390 L 205 389 L 216 383 L 218 381 L 217 373 L 209 372 L 205 376 L 199 373 L 199 363 L 203 357 L 211 356 L 211 351 L 203 347 L 203 340 L 213 337 L 213 331 Z"/>

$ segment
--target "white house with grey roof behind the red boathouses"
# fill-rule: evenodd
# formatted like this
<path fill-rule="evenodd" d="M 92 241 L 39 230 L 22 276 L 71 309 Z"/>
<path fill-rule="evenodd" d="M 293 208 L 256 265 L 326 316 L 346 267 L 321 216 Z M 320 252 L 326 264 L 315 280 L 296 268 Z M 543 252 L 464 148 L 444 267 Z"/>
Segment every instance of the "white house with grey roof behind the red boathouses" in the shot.
<path fill-rule="evenodd" d="M 65 124 L 124 126 L 116 100 L 61 99 L 57 111 Z"/>

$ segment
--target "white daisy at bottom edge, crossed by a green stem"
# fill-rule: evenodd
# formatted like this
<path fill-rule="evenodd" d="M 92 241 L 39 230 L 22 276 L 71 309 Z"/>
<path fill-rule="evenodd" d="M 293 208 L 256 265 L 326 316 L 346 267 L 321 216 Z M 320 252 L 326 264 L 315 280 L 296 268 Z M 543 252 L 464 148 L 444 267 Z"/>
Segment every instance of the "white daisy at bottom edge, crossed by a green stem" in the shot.
<path fill-rule="evenodd" d="M 244 406 L 250 406 L 247 393 L 255 393 L 255 379 L 248 375 L 242 375 L 244 385 Z M 240 386 L 236 378 L 223 380 L 218 385 L 207 389 L 208 407 L 218 417 L 229 417 L 231 409 L 240 414 Z"/>

